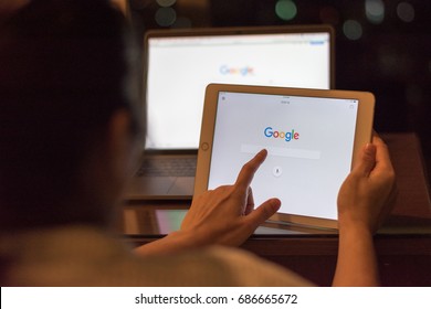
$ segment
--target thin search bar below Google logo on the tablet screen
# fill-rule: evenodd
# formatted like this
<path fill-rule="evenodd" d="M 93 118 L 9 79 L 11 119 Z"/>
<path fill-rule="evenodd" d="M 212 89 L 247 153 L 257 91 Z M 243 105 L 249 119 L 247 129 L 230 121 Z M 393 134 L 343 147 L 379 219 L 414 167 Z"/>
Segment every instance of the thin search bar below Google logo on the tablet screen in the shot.
<path fill-rule="evenodd" d="M 283 147 L 269 147 L 269 146 L 250 145 L 250 143 L 241 145 L 241 152 L 242 153 L 255 154 L 259 151 L 261 151 L 262 149 L 266 149 L 269 156 L 297 158 L 297 159 L 311 159 L 311 160 L 320 159 L 320 151 L 318 151 L 318 150 L 283 148 Z"/>

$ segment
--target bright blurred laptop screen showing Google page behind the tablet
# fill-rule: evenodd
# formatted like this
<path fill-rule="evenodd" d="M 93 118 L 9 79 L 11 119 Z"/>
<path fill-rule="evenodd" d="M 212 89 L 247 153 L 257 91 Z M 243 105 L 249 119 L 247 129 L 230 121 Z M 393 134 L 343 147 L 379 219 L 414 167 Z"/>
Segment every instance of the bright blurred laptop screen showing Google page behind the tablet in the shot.
<path fill-rule="evenodd" d="M 329 31 L 164 34 L 146 44 L 146 149 L 198 149 L 210 83 L 332 87 Z"/>

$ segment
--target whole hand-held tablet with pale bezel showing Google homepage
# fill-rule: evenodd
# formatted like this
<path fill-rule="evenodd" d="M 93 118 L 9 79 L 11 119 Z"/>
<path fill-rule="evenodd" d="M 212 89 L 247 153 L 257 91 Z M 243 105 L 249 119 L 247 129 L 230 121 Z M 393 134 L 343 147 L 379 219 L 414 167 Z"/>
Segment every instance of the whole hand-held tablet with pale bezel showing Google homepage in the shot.
<path fill-rule="evenodd" d="M 195 195 L 234 183 L 261 149 L 255 205 L 278 198 L 271 220 L 337 228 L 337 195 L 372 134 L 370 93 L 210 84 Z"/>

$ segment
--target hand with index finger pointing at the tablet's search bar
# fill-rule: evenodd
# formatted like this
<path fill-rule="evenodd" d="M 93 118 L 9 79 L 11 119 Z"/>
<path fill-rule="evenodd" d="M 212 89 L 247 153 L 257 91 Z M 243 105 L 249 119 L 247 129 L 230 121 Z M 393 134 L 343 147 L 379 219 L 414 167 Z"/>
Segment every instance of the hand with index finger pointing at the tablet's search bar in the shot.
<path fill-rule="evenodd" d="M 270 199 L 254 209 L 250 184 L 266 154 L 266 150 L 262 150 L 245 163 L 234 184 L 219 187 L 193 199 L 181 231 L 192 232 L 207 244 L 242 244 L 281 205 L 278 199 Z"/>

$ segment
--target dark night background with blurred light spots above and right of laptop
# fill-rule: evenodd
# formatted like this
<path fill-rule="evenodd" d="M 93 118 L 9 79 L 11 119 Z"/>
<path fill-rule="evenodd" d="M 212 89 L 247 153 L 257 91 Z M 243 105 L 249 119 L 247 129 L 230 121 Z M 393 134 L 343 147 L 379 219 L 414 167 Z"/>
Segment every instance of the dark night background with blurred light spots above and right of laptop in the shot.
<path fill-rule="evenodd" d="M 329 23 L 336 88 L 376 95 L 375 128 L 418 134 L 431 174 L 431 1 L 129 0 L 149 29 Z"/>

